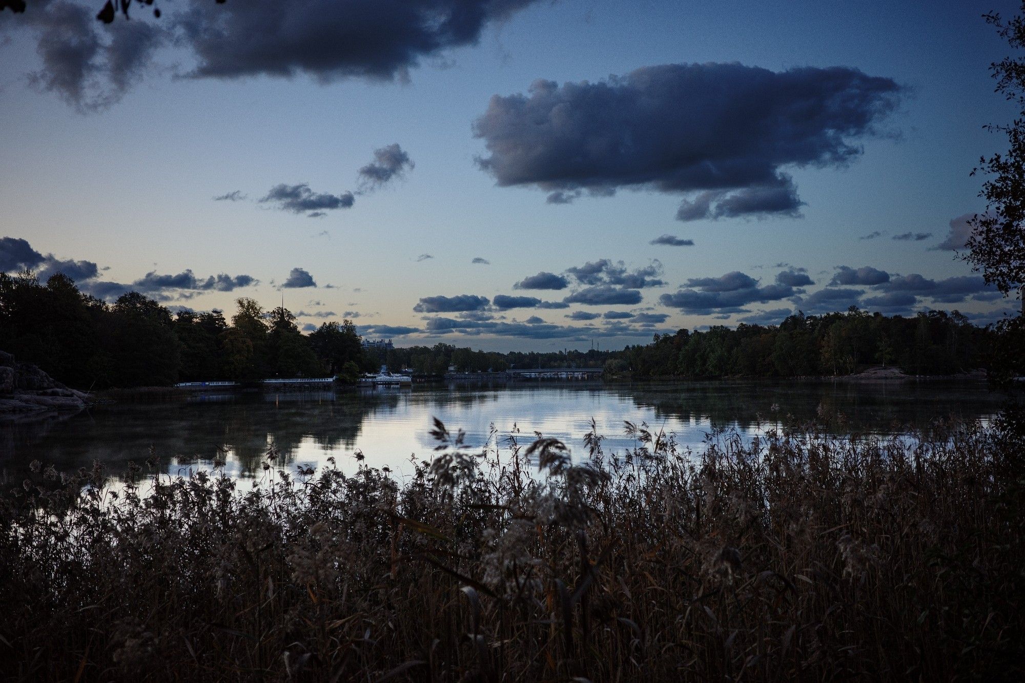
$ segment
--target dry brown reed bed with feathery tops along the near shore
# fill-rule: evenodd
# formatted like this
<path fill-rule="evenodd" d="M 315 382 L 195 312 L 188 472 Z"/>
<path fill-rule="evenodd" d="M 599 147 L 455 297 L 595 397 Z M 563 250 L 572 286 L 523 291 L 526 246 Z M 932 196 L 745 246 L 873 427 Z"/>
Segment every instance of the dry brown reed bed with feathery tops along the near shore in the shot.
<path fill-rule="evenodd" d="M 2 499 L 0 674 L 26 681 L 1021 680 L 1022 442 L 813 427 L 699 452 L 440 423 L 249 490 L 33 465 Z M 159 465 L 151 463 L 155 471 Z M 238 489 L 237 489 L 238 486 Z M 245 488 L 246 490 L 240 490 Z"/>

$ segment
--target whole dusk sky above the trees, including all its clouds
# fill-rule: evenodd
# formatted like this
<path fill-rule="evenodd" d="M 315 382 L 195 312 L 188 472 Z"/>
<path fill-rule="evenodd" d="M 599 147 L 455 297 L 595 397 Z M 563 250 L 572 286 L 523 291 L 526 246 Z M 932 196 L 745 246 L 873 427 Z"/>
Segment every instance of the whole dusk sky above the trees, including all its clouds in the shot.
<path fill-rule="evenodd" d="M 398 346 L 1019 304 L 957 259 L 1012 2 L 0 11 L 0 271 Z"/>

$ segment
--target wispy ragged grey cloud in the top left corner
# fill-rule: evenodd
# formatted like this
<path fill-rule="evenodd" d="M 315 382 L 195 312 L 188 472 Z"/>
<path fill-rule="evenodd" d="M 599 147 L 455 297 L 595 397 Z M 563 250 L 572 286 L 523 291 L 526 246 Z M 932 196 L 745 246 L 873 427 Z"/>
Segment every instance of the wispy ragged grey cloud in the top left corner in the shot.
<path fill-rule="evenodd" d="M 17 26 L 34 35 L 43 65 L 29 75 L 30 83 L 80 112 L 121 99 L 168 39 L 164 26 L 145 21 L 104 25 L 95 18 L 95 7 L 66 0 L 34 3 Z"/>

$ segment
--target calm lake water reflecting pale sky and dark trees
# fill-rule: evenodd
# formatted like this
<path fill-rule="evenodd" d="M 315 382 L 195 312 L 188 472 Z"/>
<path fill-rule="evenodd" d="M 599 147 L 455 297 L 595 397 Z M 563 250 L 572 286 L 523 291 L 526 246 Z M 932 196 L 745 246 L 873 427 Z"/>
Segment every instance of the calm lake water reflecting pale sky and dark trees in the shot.
<path fill-rule="evenodd" d="M 985 383 L 685 381 L 672 384 L 520 384 L 499 387 L 417 386 L 280 394 L 224 394 L 173 400 L 100 404 L 72 416 L 0 420 L 0 478 L 19 481 L 33 459 L 58 470 L 107 464 L 115 474 L 151 452 L 171 474 L 209 469 L 218 452 L 225 471 L 262 476 L 268 447 L 283 465 L 320 466 L 334 456 L 352 471 L 362 452 L 373 467 L 400 475 L 410 457 L 429 459 L 428 430 L 438 417 L 466 443 L 480 447 L 491 426 L 499 438 L 514 429 L 521 442 L 534 432 L 564 440 L 583 452 L 591 418 L 606 448 L 634 445 L 623 420 L 646 421 L 700 448 L 712 429 L 732 428 L 751 437 L 786 415 L 815 419 L 824 410 L 846 416 L 838 432 L 904 434 L 944 416 L 988 419 L 1000 406 Z"/>

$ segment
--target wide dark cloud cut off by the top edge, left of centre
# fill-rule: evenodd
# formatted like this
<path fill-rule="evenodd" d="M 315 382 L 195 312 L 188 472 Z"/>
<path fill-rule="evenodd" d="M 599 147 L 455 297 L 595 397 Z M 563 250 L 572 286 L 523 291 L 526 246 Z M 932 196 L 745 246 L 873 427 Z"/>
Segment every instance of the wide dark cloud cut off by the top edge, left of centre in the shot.
<path fill-rule="evenodd" d="M 531 2 L 192 0 L 180 30 L 198 61 L 197 77 L 391 80 L 405 78 L 425 56 L 475 44 L 485 26 Z"/>

